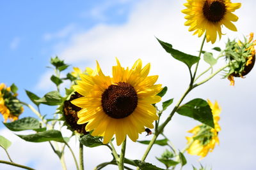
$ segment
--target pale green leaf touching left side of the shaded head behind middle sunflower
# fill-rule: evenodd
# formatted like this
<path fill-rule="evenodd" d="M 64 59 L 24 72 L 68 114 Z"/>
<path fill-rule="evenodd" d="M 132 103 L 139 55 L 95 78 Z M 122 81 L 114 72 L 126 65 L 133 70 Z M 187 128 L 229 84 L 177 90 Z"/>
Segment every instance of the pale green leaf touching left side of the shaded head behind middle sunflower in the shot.
<path fill-rule="evenodd" d="M 62 97 L 59 92 L 52 91 L 48 92 L 44 97 L 35 101 L 38 103 L 47 104 L 49 106 L 56 106 L 62 104 Z"/>

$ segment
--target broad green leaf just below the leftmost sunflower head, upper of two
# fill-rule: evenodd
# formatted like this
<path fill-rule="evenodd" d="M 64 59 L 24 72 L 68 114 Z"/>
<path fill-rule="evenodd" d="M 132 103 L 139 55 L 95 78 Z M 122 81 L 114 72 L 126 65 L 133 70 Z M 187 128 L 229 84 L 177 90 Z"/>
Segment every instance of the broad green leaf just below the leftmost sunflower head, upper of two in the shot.
<path fill-rule="evenodd" d="M 10 123 L 3 123 L 11 131 L 25 131 L 25 130 L 34 130 L 34 131 L 44 131 L 45 128 L 42 128 L 40 122 L 33 117 L 24 117 L 19 120 Z"/>

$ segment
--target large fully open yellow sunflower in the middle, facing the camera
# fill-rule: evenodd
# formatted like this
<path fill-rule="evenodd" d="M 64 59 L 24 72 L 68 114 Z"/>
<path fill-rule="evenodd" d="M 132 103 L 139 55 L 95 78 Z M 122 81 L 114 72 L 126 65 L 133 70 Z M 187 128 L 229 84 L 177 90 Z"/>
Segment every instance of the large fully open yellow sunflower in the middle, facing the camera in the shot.
<path fill-rule="evenodd" d="M 81 80 L 77 80 L 74 89 L 84 97 L 71 103 L 82 108 L 77 113 L 77 124 L 88 122 L 86 131 L 93 131 L 92 136 L 103 136 L 103 143 L 115 134 L 120 145 L 127 135 L 136 141 L 145 127 L 154 128 L 152 123 L 158 117 L 152 104 L 161 101 L 156 94 L 162 88 L 154 85 L 158 76 L 148 76 L 150 64 L 142 67 L 139 59 L 131 69 L 125 69 L 118 59 L 116 63 L 112 78 L 102 73 L 98 62 L 94 71 L 87 68 L 88 74 L 80 74 Z"/>

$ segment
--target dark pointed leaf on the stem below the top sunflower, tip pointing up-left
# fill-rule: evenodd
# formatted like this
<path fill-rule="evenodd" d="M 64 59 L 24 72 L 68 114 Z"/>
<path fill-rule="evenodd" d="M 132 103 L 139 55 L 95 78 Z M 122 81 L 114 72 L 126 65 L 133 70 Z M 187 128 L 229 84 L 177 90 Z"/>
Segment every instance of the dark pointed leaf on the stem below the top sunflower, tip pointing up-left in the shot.
<path fill-rule="evenodd" d="M 169 43 L 165 43 L 158 38 L 156 39 L 161 44 L 161 46 L 163 46 L 166 52 L 170 53 L 174 59 L 184 62 L 184 64 L 186 64 L 189 67 L 189 69 L 191 68 L 191 66 L 193 66 L 193 64 L 195 64 L 200 60 L 199 57 L 196 57 L 194 55 L 189 55 L 184 52 L 180 52 L 179 50 L 175 50 L 174 48 L 172 48 L 172 45 L 170 45 Z"/>

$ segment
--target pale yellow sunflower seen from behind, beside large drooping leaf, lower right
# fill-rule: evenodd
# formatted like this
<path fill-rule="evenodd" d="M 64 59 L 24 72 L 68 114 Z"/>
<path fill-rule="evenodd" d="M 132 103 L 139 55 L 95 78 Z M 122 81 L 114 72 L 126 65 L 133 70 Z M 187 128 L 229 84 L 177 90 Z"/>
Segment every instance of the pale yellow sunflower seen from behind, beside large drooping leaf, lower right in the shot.
<path fill-rule="evenodd" d="M 221 128 L 218 124 L 220 120 L 220 111 L 221 108 L 218 106 L 218 103 L 214 104 L 211 101 L 207 100 L 210 108 L 212 109 L 212 116 L 214 120 L 214 129 L 209 127 L 208 125 L 202 124 L 194 127 L 189 133 L 192 133 L 193 136 L 186 137 L 188 140 L 189 148 L 187 149 L 190 155 L 198 155 L 200 159 L 206 157 L 208 152 L 212 152 L 215 144 L 219 144 L 218 132 L 220 132 Z"/>

